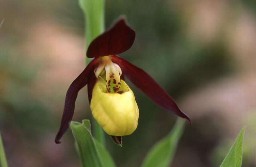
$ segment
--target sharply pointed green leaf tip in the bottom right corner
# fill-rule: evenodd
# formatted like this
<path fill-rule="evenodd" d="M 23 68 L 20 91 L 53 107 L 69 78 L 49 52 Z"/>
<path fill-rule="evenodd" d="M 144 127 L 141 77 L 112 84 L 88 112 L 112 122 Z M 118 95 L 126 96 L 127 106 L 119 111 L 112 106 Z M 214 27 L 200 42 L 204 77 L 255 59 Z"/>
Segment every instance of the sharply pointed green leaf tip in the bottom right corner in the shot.
<path fill-rule="evenodd" d="M 230 148 L 228 155 L 225 157 L 220 167 L 241 167 L 243 157 L 244 130 L 245 126 L 238 134 L 236 141 Z"/>

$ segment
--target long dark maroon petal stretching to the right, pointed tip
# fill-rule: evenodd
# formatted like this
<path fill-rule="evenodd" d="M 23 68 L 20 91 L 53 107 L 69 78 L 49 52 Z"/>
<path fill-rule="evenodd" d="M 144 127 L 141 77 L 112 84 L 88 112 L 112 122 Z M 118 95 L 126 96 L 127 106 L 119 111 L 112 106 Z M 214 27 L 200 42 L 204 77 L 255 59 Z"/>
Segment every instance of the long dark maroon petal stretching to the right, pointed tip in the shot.
<path fill-rule="evenodd" d="M 178 108 L 172 97 L 168 95 L 168 93 L 165 92 L 165 90 L 158 85 L 150 75 L 148 75 L 148 73 L 121 57 L 111 56 L 111 59 L 114 63 L 120 66 L 122 73 L 131 80 L 136 87 L 140 88 L 140 90 L 148 95 L 148 97 L 159 107 L 170 111 L 181 118 L 186 118 L 191 124 L 190 118 Z"/>

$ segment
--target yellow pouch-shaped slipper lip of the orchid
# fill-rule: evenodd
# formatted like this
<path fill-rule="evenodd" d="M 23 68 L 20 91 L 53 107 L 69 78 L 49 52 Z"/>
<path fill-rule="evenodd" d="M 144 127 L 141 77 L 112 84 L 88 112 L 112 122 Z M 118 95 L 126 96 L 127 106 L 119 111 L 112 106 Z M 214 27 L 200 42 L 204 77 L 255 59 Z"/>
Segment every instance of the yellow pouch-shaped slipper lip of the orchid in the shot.
<path fill-rule="evenodd" d="M 139 109 L 134 94 L 124 80 L 121 85 L 119 93 L 107 93 L 97 81 L 92 90 L 92 115 L 112 136 L 130 135 L 138 125 Z"/>

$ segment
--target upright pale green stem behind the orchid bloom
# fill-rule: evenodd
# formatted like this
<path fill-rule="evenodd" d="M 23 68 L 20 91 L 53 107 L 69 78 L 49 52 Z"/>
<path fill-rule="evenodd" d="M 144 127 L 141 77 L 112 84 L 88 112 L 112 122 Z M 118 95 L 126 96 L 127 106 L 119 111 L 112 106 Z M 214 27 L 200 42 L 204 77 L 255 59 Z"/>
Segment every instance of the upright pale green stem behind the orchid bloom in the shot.
<path fill-rule="evenodd" d="M 84 12 L 85 19 L 85 53 L 92 40 L 104 32 L 104 4 L 104 0 L 79 0 L 79 5 Z M 86 65 L 90 61 L 91 59 L 85 55 Z M 105 146 L 105 133 L 93 117 L 92 130 L 93 136 Z"/>

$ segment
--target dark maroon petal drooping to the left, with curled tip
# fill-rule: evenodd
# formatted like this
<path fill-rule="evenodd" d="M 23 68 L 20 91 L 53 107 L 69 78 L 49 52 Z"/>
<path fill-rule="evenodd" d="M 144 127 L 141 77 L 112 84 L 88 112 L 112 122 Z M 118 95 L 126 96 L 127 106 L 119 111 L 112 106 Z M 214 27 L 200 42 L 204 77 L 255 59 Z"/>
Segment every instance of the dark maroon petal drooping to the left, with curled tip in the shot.
<path fill-rule="evenodd" d="M 69 123 L 73 117 L 75 110 L 75 102 L 78 91 L 83 88 L 87 83 L 90 75 L 93 73 L 94 68 L 99 64 L 99 58 L 93 59 L 89 65 L 84 69 L 84 71 L 71 83 L 68 88 L 64 110 L 60 123 L 60 130 L 55 137 L 55 143 L 59 144 L 61 137 L 68 130 Z"/>

